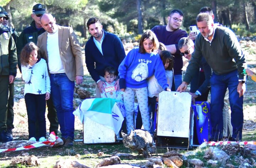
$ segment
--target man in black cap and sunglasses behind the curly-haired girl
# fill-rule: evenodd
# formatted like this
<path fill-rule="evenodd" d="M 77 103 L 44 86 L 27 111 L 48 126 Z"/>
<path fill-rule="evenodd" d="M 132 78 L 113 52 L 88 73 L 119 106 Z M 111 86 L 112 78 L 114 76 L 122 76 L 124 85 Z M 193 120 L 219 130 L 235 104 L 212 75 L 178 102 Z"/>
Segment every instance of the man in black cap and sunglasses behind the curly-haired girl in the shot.
<path fill-rule="evenodd" d="M 28 43 L 28 42 L 34 42 L 34 44 L 37 44 L 37 38 L 39 35 L 45 32 L 45 30 L 41 26 L 40 17 L 46 13 L 46 6 L 42 4 L 36 4 L 33 6 L 31 17 L 34 19 L 32 23 L 30 24 L 30 27 L 27 27 L 24 29 L 17 40 L 17 55 L 18 58 L 20 58 L 20 53 L 22 48 Z M 18 59 L 18 68 L 21 71 L 21 64 Z M 53 106 L 52 99 L 46 101 L 47 107 L 48 107 L 48 114 L 47 118 L 50 122 L 50 128 L 49 132 L 51 133 L 54 131 L 54 133 L 58 134 L 58 127 L 59 122 L 57 118 L 56 109 Z"/>

